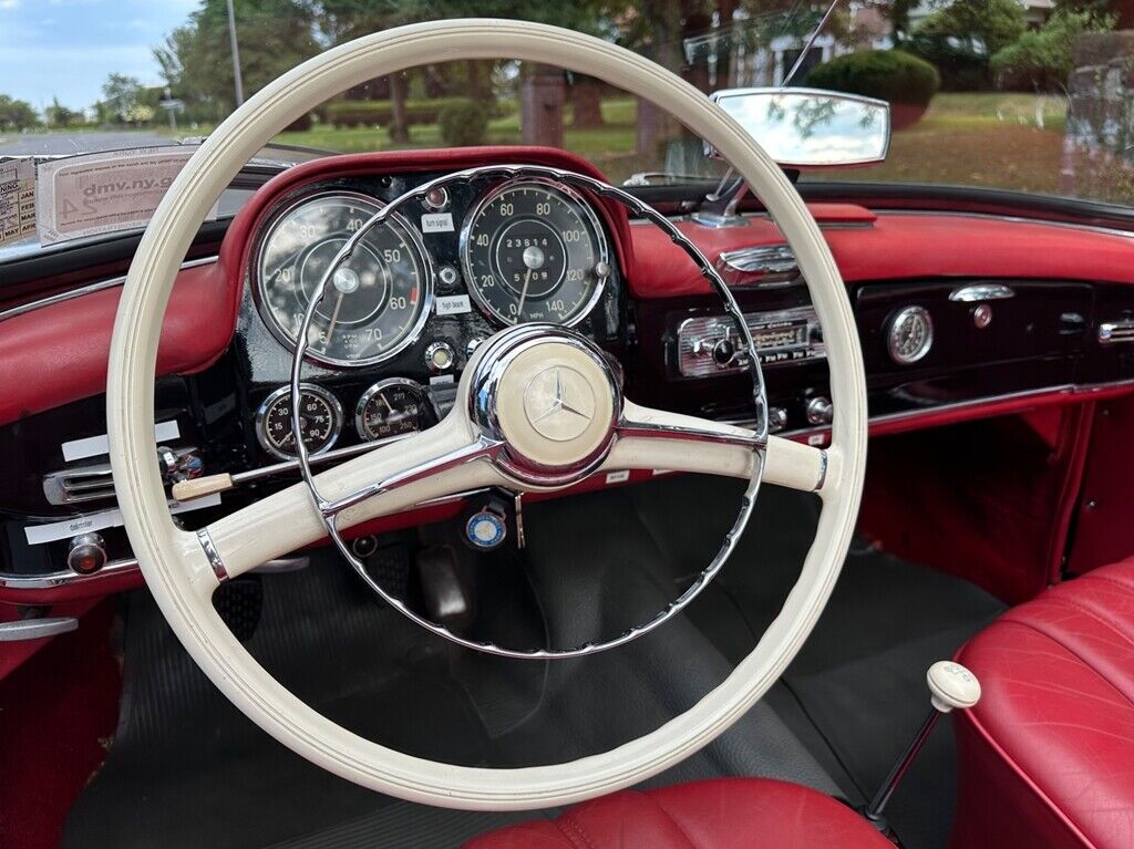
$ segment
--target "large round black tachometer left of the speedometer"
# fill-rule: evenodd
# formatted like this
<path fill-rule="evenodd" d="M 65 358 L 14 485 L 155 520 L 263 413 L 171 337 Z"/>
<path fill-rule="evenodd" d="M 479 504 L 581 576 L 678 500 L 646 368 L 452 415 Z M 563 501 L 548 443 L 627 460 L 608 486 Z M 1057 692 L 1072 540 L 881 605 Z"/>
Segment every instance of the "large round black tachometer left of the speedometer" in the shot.
<path fill-rule="evenodd" d="M 380 209 L 361 195 L 311 197 L 284 210 L 260 248 L 256 292 L 261 315 L 286 346 L 295 345 L 311 296 L 335 255 Z M 312 359 L 370 365 L 409 345 L 432 297 L 429 260 L 397 215 L 370 230 L 335 272 L 308 331 Z"/>

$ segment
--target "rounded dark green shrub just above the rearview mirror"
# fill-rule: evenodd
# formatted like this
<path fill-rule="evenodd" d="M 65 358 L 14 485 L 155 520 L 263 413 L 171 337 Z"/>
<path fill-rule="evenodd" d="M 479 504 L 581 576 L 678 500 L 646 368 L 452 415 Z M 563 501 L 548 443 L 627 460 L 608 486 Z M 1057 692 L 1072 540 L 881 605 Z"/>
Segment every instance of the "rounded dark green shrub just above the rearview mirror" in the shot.
<path fill-rule="evenodd" d="M 932 65 L 900 50 L 866 50 L 812 68 L 807 85 L 925 105 L 937 94 L 941 77 Z"/>

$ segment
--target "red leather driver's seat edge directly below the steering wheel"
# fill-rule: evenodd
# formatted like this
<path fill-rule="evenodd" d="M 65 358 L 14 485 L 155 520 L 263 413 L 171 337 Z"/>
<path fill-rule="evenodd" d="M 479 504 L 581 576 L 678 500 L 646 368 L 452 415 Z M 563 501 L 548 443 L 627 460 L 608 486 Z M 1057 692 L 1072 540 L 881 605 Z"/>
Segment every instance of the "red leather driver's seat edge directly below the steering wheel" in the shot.
<path fill-rule="evenodd" d="M 465 849 L 894 849 L 845 805 L 799 784 L 719 779 L 623 792 L 476 838 Z"/>

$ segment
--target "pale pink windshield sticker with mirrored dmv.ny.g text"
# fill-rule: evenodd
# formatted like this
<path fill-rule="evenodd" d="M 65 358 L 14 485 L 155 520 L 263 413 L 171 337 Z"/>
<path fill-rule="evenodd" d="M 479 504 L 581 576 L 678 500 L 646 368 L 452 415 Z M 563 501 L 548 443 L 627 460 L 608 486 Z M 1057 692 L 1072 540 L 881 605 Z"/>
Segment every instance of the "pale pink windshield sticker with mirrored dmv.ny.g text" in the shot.
<path fill-rule="evenodd" d="M 36 226 L 42 245 L 145 227 L 193 155 L 183 146 L 139 147 L 42 162 Z M 217 218 L 217 205 L 206 220 Z"/>

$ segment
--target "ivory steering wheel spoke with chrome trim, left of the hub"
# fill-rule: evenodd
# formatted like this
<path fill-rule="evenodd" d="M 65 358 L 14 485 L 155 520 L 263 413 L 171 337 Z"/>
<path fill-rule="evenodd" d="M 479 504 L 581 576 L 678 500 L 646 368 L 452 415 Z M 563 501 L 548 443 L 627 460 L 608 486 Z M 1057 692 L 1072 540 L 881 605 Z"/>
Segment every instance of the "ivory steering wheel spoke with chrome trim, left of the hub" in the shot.
<path fill-rule="evenodd" d="M 304 483 L 276 492 L 194 534 L 183 545 L 208 562 L 217 580 L 235 578 L 328 535 L 379 516 L 502 483 L 490 462 L 499 447 L 450 416 L 437 427 L 375 448 L 314 476 L 316 502 Z M 196 562 L 202 562 L 200 559 Z"/>

